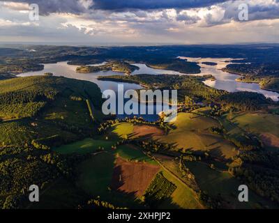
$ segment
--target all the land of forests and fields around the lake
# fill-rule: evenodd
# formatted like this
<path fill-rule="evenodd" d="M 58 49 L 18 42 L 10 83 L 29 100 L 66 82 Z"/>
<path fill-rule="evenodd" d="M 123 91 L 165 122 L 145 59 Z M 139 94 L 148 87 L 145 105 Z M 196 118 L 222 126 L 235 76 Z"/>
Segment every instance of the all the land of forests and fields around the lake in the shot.
<path fill-rule="evenodd" d="M 116 63 L 120 67 L 116 70 L 128 73 L 137 69 L 129 63 L 198 72 L 197 63 L 176 57 L 222 56 L 246 57 L 240 67 L 252 70 L 246 62 L 262 61 L 265 66 L 259 77 L 265 86 L 274 86 L 276 73 L 264 70 L 269 70 L 270 58 L 279 61 L 279 47 L 28 49 L 33 50 L 0 48 L 0 208 L 279 207 L 279 105 L 262 94 L 206 86 L 204 81 L 212 75 L 98 78 L 159 91 L 178 90 L 176 121 L 165 123 L 163 115 L 155 121 L 142 116 L 105 116 L 102 93 L 92 82 L 55 77 L 55 72 L 47 71 L 41 76 L 13 78 L 20 70 L 59 61 L 79 66 L 111 61 L 110 68 L 103 69 L 112 70 Z M 39 187 L 40 202 L 29 202 L 33 184 Z M 242 184 L 249 187 L 249 202 L 238 200 L 237 188 Z"/>

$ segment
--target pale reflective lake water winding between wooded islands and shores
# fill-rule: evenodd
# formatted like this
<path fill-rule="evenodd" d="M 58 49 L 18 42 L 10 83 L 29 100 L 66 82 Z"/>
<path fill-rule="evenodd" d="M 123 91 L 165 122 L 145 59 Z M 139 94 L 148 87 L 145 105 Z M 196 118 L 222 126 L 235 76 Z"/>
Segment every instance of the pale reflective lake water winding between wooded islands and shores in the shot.
<path fill-rule="evenodd" d="M 180 59 L 186 59 L 190 62 L 196 62 L 201 67 L 201 73 L 198 75 L 213 75 L 216 77 L 216 80 L 206 80 L 204 84 L 211 86 L 216 89 L 222 89 L 229 92 L 234 91 L 252 91 L 257 93 L 262 93 L 266 96 L 266 98 L 271 98 L 272 100 L 278 101 L 279 100 L 279 93 L 273 91 L 266 91 L 259 87 L 259 84 L 256 83 L 244 83 L 244 82 L 236 82 L 236 78 L 239 75 L 234 75 L 228 72 L 223 72 L 222 68 L 225 68 L 229 61 L 232 59 L 222 58 L 222 59 L 213 59 L 213 58 L 190 58 L 190 57 L 180 57 Z M 217 63 L 216 66 L 205 65 L 202 62 L 213 62 Z M 100 64 L 93 64 L 91 66 L 98 66 Z M 149 75 L 186 75 L 181 72 L 176 72 L 174 70 L 161 70 L 161 69 L 154 69 L 149 68 L 143 63 L 133 63 L 133 65 L 139 67 L 139 70 L 135 70 L 132 75 L 138 74 L 149 74 Z M 130 83 L 122 83 L 122 82 L 110 82 L 110 81 L 100 81 L 98 80 L 99 76 L 110 76 L 110 75 L 124 75 L 122 72 L 113 72 L 113 71 L 100 71 L 94 73 L 77 73 L 75 72 L 76 68 L 79 66 L 68 65 L 67 61 L 58 62 L 58 63 L 46 63 L 44 64 L 44 69 L 35 72 L 24 72 L 18 76 L 20 77 L 27 77 L 27 76 L 34 76 L 34 75 L 44 75 L 45 72 L 52 72 L 55 76 L 63 76 L 73 79 L 81 79 L 86 80 L 89 82 L 94 82 L 98 84 L 100 90 L 103 92 L 107 89 L 111 89 L 113 91 L 117 91 L 118 84 L 123 84 L 124 91 L 129 89 L 142 89 L 142 86 L 138 84 L 130 84 Z M 154 108 L 155 109 L 155 108 Z M 153 115 L 141 115 L 143 118 L 149 121 L 156 121 L 158 119 L 158 113 L 162 111 L 156 111 Z M 119 115 L 119 118 L 123 118 L 126 115 Z"/>

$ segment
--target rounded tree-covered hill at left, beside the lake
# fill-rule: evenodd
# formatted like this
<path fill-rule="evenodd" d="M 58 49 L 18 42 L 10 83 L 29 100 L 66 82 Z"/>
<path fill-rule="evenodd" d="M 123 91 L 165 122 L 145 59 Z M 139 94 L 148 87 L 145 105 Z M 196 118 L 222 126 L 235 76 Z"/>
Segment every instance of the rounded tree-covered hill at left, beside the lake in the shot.
<path fill-rule="evenodd" d="M 91 82 L 41 76 L 3 80 L 1 144 L 22 145 L 37 139 L 68 142 L 89 134 L 98 120 L 95 111 L 101 100 L 100 89 Z"/>

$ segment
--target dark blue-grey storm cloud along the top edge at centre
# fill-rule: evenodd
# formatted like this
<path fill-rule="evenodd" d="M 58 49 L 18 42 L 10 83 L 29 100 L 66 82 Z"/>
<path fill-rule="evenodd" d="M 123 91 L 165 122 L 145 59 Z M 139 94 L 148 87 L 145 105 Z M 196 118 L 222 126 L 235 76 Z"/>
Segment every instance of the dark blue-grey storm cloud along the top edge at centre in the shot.
<path fill-rule="evenodd" d="M 225 0 L 227 1 L 227 0 Z M 157 10 L 165 8 L 200 8 L 224 0 L 94 0 L 92 8 L 100 10 Z"/>

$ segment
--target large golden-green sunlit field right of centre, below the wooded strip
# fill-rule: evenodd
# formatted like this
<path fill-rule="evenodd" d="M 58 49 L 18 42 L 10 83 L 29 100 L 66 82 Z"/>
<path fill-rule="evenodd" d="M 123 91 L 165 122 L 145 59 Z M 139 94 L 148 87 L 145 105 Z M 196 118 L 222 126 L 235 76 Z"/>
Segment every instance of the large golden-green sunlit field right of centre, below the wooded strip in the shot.
<path fill-rule="evenodd" d="M 209 150 L 216 157 L 229 158 L 236 155 L 234 145 L 218 134 L 211 134 L 209 132 L 211 127 L 220 127 L 220 124 L 213 118 L 179 113 L 174 123 L 174 129 L 165 136 L 155 138 L 184 150 Z"/>

